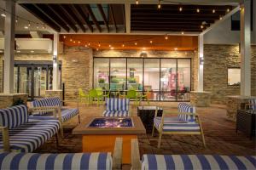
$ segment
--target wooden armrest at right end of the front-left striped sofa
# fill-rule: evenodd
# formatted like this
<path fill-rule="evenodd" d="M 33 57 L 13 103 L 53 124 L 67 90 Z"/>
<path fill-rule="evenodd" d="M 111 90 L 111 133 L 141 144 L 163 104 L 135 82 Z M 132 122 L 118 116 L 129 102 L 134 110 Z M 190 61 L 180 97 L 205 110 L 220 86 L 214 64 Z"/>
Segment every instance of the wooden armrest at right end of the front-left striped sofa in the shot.
<path fill-rule="evenodd" d="M 113 169 L 122 169 L 123 139 L 116 138 L 113 148 Z"/>

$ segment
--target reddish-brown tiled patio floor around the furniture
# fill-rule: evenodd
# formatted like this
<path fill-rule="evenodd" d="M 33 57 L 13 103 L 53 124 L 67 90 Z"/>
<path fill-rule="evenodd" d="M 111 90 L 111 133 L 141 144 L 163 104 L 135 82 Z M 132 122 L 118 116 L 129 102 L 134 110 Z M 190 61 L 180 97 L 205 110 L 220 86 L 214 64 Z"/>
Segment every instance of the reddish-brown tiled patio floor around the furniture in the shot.
<path fill-rule="evenodd" d="M 160 105 L 169 110 L 177 108 L 177 103 L 170 102 L 151 103 L 151 105 Z M 256 139 L 249 139 L 243 133 L 236 133 L 236 124 L 226 120 L 224 107 L 224 105 L 212 105 L 209 108 L 197 108 L 207 142 L 206 149 L 201 144 L 201 137 L 195 135 L 164 135 L 161 148 L 158 149 L 158 137 L 145 134 L 139 137 L 140 153 L 256 155 Z M 102 106 L 80 107 L 82 122 L 86 116 L 101 116 L 102 111 Z M 136 108 L 133 108 L 132 114 L 137 114 Z M 77 117 L 65 123 L 65 138 L 61 139 L 58 148 L 55 146 L 55 139 L 52 139 L 35 152 L 81 152 L 81 136 L 72 134 L 72 128 L 77 123 Z"/>

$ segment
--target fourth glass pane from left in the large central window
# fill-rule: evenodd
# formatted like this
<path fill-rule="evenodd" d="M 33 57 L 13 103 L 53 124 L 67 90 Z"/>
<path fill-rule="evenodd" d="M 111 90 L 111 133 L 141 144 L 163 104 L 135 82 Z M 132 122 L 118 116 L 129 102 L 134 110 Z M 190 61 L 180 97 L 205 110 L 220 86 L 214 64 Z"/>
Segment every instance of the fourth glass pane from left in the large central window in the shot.
<path fill-rule="evenodd" d="M 160 59 L 144 59 L 144 90 L 149 99 L 160 99 Z"/>

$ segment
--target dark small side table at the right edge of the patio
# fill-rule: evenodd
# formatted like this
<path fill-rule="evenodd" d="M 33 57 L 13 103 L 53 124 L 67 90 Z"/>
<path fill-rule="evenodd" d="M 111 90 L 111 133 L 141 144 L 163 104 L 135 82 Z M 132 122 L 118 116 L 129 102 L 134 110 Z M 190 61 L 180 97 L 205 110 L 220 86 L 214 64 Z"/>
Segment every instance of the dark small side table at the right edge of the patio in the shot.
<path fill-rule="evenodd" d="M 236 132 L 240 130 L 252 138 L 256 135 L 256 111 L 238 110 L 236 115 Z"/>

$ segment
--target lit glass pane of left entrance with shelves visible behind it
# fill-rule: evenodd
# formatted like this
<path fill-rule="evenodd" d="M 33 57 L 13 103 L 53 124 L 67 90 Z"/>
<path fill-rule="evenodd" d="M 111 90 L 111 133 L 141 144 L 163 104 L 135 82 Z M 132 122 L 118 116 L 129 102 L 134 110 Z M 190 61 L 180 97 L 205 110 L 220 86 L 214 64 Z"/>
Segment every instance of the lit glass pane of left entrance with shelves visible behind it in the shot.
<path fill-rule="evenodd" d="M 40 98 L 45 96 L 46 90 L 46 68 L 35 67 L 34 68 L 34 98 Z"/>

